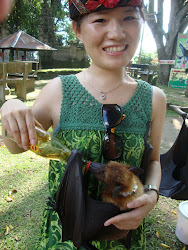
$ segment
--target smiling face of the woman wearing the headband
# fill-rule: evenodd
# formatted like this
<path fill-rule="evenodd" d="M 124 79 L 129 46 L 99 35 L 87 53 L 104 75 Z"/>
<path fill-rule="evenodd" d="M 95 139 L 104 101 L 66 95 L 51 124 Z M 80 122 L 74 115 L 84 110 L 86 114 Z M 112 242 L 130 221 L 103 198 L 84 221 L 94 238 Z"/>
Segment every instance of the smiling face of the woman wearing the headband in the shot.
<path fill-rule="evenodd" d="M 79 27 L 73 23 L 73 29 L 92 64 L 114 69 L 127 65 L 134 56 L 142 20 L 137 8 L 118 7 L 93 12 L 83 17 Z"/>

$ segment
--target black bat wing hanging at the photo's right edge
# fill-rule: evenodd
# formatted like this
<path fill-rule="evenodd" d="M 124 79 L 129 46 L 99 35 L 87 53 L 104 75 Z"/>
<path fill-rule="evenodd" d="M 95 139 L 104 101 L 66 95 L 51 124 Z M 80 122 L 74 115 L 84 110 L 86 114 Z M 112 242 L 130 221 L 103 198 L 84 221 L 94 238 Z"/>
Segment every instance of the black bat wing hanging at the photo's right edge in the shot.
<path fill-rule="evenodd" d="M 188 127 L 185 119 L 174 145 L 161 155 L 161 167 L 159 194 L 177 200 L 188 199 Z"/>

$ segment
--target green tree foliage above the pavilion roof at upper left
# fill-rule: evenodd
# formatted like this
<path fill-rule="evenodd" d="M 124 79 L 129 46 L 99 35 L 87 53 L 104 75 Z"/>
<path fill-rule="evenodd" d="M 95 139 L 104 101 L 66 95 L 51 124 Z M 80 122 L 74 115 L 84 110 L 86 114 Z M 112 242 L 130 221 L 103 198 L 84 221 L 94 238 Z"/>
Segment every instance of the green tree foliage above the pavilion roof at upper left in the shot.
<path fill-rule="evenodd" d="M 51 0 L 47 1 L 51 17 L 56 32 L 56 40 L 58 45 L 67 45 L 68 41 L 76 40 L 72 31 L 69 19 L 67 1 Z M 8 32 L 10 34 L 23 30 L 26 33 L 40 39 L 41 20 L 43 19 L 42 8 L 43 0 L 15 0 L 14 7 L 7 19 Z M 48 18 L 50 18 L 48 16 Z M 49 22 L 45 22 L 48 26 Z"/>

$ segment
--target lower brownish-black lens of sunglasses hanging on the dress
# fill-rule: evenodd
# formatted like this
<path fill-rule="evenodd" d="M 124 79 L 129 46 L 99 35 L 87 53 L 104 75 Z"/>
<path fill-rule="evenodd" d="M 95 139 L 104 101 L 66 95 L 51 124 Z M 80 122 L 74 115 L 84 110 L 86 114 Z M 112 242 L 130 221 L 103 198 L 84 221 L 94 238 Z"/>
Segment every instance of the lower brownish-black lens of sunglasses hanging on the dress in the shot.
<path fill-rule="evenodd" d="M 105 134 L 102 142 L 102 154 L 107 160 L 116 160 L 123 152 L 123 140 L 117 134 Z"/>

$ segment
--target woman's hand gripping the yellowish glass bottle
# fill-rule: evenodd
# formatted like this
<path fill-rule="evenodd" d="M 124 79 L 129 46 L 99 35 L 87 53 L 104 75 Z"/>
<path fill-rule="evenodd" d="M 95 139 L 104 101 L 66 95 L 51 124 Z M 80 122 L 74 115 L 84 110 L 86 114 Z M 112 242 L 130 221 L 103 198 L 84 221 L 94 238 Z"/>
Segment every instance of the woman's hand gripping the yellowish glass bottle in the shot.
<path fill-rule="evenodd" d="M 30 143 L 32 145 L 37 143 L 35 125 L 37 124 L 40 127 L 41 125 L 35 120 L 32 109 L 20 100 L 12 99 L 3 104 L 1 107 L 1 120 L 3 134 L 4 130 L 6 130 L 19 147 L 28 150 Z M 5 137 L 3 139 L 7 144 L 11 144 Z"/>

